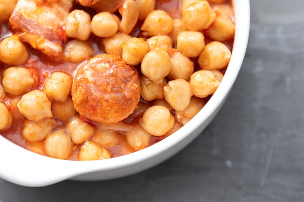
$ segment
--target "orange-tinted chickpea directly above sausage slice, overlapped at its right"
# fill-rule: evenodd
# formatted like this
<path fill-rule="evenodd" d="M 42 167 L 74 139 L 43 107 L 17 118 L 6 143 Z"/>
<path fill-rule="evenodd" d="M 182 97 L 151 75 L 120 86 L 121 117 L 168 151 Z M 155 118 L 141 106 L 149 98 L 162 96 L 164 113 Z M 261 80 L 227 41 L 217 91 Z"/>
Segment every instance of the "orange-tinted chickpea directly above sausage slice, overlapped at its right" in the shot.
<path fill-rule="evenodd" d="M 117 32 L 113 36 L 101 38 L 101 45 L 107 54 L 122 56 L 122 48 L 131 38 L 129 34 Z"/>

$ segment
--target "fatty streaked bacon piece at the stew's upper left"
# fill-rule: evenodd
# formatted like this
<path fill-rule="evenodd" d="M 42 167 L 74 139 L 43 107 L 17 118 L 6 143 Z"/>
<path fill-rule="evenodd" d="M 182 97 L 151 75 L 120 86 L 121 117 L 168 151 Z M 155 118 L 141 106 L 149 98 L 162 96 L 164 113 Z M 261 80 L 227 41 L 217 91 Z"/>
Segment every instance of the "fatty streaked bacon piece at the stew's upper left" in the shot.
<path fill-rule="evenodd" d="M 19 0 L 9 23 L 23 42 L 40 50 L 48 59 L 62 58 L 65 18 L 73 0 Z"/>

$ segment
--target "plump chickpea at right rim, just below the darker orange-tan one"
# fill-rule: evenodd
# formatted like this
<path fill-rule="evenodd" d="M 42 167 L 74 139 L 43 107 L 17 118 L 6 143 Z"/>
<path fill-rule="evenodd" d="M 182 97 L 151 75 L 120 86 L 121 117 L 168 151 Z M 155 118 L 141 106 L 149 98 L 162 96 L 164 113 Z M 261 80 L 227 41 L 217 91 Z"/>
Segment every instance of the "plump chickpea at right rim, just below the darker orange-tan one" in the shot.
<path fill-rule="evenodd" d="M 198 59 L 203 69 L 223 69 L 227 67 L 231 58 L 231 51 L 226 45 L 213 41 L 207 44 Z"/>

